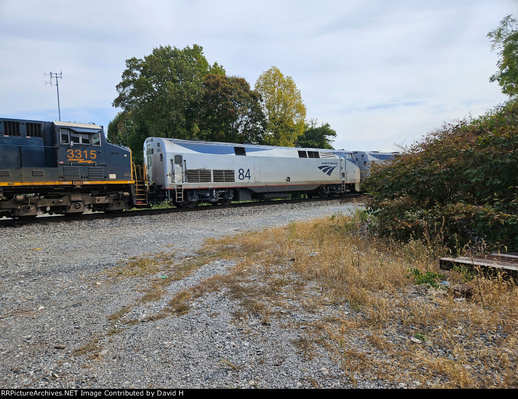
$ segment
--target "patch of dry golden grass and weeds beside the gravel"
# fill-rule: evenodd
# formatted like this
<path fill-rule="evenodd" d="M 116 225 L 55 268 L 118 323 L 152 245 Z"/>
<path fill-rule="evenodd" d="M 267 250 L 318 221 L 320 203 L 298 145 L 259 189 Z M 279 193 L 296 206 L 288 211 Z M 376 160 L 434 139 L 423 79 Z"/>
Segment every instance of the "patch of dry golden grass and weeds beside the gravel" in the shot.
<path fill-rule="evenodd" d="M 293 345 L 314 355 L 308 345 L 322 343 L 353 384 L 360 373 L 422 387 L 516 387 L 516 285 L 479 278 L 469 301 L 455 301 L 451 293 L 415 286 L 407 277 L 410 267 L 438 272 L 442 253 L 421 241 L 389 243 L 363 229 L 361 217 L 334 215 L 210 239 L 200 252 L 237 265 L 190 294 L 225 290 L 240 301 L 244 314 L 264 322 L 284 317 L 272 315 L 269 304 L 278 301 L 289 309 L 287 297 L 311 313 L 325 312 L 326 306 L 349 308 L 351 315 L 329 316 Z M 465 277 L 448 275 L 453 283 Z M 416 334 L 427 341 L 413 343 Z"/>

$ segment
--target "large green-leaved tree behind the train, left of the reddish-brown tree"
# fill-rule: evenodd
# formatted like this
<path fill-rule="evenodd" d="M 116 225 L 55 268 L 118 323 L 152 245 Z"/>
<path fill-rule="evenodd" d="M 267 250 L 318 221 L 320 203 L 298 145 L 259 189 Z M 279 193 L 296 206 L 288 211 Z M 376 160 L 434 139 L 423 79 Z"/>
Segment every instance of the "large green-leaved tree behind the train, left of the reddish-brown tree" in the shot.
<path fill-rule="evenodd" d="M 154 48 L 143 60 L 126 60 L 113 106 L 123 109 L 136 136 L 142 136 L 141 129 L 145 129 L 151 136 L 197 138 L 197 105 L 209 73 L 224 74 L 225 70 L 218 63 L 210 66 L 201 46 Z"/>

